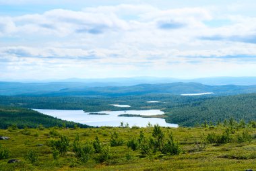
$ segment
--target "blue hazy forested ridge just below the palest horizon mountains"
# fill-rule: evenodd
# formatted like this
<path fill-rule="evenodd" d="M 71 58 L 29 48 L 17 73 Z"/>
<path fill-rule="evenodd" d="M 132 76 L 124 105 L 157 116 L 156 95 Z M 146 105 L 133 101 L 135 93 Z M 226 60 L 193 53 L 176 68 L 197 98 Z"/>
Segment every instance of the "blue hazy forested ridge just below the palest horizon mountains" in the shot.
<path fill-rule="evenodd" d="M 122 87 L 86 87 L 82 83 L 16 83 L 0 82 L 0 95 L 5 96 L 134 96 L 144 94 L 196 94 L 212 92 L 215 95 L 256 93 L 256 86 L 207 86 L 201 83 L 139 84 Z"/>

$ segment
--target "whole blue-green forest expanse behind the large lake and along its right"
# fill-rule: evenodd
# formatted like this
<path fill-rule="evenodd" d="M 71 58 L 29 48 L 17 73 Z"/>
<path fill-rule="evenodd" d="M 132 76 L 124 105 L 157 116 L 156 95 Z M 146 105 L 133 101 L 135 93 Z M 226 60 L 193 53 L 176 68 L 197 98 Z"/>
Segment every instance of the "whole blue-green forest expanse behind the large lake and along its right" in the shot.
<path fill-rule="evenodd" d="M 148 103 L 157 100 L 158 103 Z M 0 96 L 0 104 L 22 108 L 79 109 L 85 112 L 102 110 L 160 109 L 166 114 L 167 123 L 193 127 L 207 121 L 216 124 L 224 119 L 256 120 L 256 94 L 232 96 L 179 96 L 171 94 L 147 94 L 122 97 L 19 97 Z M 109 104 L 128 104 L 119 108 Z"/>

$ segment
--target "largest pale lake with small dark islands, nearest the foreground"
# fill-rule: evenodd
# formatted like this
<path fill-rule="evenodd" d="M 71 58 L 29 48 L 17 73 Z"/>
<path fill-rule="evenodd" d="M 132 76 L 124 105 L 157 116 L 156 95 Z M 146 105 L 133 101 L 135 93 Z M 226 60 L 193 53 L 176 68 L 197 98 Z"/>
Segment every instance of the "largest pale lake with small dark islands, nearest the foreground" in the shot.
<path fill-rule="evenodd" d="M 141 117 L 123 117 L 119 114 L 140 114 L 145 116 L 164 114 L 160 110 L 121 110 L 121 111 L 100 111 L 95 113 L 106 113 L 108 115 L 89 114 L 93 112 L 84 112 L 83 110 L 52 110 L 52 109 L 34 109 L 43 114 L 61 118 L 75 123 L 82 123 L 94 127 L 111 126 L 119 127 L 121 122 L 129 123 L 129 126 L 146 127 L 150 122 L 152 125 L 162 127 L 178 127 L 177 124 L 166 123 L 163 118 L 141 118 Z"/>

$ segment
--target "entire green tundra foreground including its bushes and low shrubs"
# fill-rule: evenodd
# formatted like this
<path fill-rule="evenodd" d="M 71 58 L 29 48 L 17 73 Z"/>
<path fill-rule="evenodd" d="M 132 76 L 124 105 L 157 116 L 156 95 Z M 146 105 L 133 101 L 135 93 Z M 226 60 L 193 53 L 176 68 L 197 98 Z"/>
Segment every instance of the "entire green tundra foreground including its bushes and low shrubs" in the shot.
<path fill-rule="evenodd" d="M 1 170 L 255 169 L 256 122 L 1 129 Z M 16 159 L 18 162 L 9 164 Z"/>

